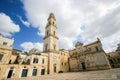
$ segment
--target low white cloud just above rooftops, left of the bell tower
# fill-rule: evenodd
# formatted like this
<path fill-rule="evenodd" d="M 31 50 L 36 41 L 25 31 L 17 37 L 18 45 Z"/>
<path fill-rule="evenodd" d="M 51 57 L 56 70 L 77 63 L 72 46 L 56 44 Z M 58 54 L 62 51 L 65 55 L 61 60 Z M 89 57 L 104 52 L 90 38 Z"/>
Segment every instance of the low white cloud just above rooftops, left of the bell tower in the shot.
<path fill-rule="evenodd" d="M 36 48 L 40 51 L 43 51 L 43 43 L 33 43 L 33 42 L 24 42 L 20 45 L 25 51 L 29 51 L 33 48 Z"/>

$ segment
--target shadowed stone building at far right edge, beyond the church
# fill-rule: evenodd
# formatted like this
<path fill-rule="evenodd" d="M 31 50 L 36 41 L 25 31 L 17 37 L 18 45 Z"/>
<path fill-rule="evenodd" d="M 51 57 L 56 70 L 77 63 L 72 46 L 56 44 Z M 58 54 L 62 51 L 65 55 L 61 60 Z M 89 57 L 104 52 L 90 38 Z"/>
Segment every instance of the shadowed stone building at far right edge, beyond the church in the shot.
<path fill-rule="evenodd" d="M 112 68 L 120 68 L 120 44 L 115 52 L 107 53 Z"/>

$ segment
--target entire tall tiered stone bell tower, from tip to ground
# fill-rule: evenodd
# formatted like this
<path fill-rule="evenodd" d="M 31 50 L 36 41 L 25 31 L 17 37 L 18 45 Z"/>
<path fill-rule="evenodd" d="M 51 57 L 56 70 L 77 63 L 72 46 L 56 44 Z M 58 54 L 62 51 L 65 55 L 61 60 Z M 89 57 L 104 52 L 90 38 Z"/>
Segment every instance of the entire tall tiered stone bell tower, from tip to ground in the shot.
<path fill-rule="evenodd" d="M 58 34 L 56 19 L 53 13 L 50 13 L 45 27 L 45 37 L 43 52 L 48 54 L 48 74 L 57 73 L 60 70 Z"/>

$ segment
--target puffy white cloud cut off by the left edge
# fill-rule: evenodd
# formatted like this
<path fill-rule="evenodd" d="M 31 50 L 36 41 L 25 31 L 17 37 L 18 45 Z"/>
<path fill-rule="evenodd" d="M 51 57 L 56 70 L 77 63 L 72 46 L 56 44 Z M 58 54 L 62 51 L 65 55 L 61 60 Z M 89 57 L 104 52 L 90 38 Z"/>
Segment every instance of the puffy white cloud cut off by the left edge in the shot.
<path fill-rule="evenodd" d="M 20 27 L 18 24 L 15 24 L 6 14 L 0 13 L 0 33 L 10 37 L 13 33 L 19 31 Z"/>

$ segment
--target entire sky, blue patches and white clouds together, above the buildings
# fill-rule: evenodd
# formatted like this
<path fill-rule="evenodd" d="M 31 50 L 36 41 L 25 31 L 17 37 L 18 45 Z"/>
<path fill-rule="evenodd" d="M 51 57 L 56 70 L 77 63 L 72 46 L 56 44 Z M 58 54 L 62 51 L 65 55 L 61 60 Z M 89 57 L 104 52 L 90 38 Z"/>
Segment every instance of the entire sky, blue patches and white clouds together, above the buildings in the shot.
<path fill-rule="evenodd" d="M 88 44 L 99 37 L 110 52 L 120 43 L 120 0 L 0 0 L 0 33 L 13 37 L 16 49 L 42 51 L 51 12 L 57 20 L 59 48 L 73 49 L 77 41 Z"/>

